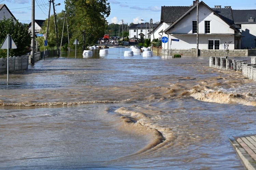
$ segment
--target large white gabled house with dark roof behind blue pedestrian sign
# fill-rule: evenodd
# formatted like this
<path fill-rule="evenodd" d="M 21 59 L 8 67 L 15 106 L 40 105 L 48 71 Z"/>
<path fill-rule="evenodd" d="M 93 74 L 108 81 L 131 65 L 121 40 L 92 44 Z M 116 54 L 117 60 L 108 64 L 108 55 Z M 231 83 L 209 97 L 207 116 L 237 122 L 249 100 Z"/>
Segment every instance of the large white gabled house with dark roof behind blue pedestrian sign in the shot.
<path fill-rule="evenodd" d="M 191 6 L 164 6 L 161 12 L 161 23 L 155 28 L 154 34 L 168 38 L 162 43 L 163 49 L 229 49 L 241 48 L 241 32 L 234 26 L 231 7 L 210 8 L 204 2 L 198 3 L 198 34 L 197 4 Z M 153 34 L 153 32 L 151 32 Z M 152 38 L 152 36 L 151 36 Z M 176 39 L 179 41 L 172 41 Z"/>

